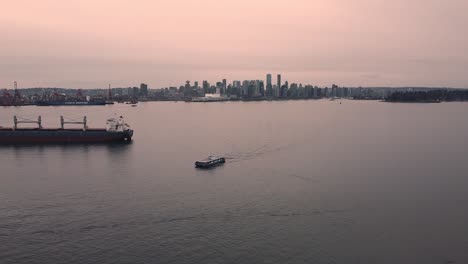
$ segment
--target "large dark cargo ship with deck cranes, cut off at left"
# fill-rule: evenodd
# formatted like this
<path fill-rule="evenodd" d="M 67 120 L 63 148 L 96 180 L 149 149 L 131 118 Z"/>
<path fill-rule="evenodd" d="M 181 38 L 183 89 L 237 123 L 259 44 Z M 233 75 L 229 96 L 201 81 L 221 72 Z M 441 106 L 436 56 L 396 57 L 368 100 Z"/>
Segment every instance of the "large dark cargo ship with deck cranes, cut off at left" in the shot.
<path fill-rule="evenodd" d="M 123 117 L 109 118 L 106 128 L 88 128 L 86 116 L 82 120 L 67 120 L 60 117 L 60 128 L 43 128 L 42 119 L 18 118 L 14 116 L 13 127 L 0 127 L 0 144 L 43 144 L 43 143 L 107 143 L 131 141 L 133 130 Z M 36 124 L 33 128 L 19 128 L 19 124 Z M 65 128 L 66 124 L 81 124 L 82 128 Z"/>

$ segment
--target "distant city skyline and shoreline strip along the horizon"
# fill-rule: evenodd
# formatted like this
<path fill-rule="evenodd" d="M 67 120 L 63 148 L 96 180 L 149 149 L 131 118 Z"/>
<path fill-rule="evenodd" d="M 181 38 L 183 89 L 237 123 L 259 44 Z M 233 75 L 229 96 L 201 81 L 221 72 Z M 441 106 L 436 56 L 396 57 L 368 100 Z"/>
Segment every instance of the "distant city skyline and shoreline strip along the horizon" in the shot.
<path fill-rule="evenodd" d="M 284 81 L 284 82 L 283 82 Z M 332 84 L 317 86 L 282 80 L 281 74 L 276 75 L 273 84 L 272 74 L 266 74 L 265 79 L 232 80 L 223 78 L 221 81 L 209 82 L 203 80 L 192 83 L 186 80 L 184 85 L 161 88 L 151 88 L 148 84 L 140 86 L 112 87 L 107 89 L 67 89 L 67 88 L 25 88 L 19 89 L 14 82 L 14 89 L 3 90 L 0 95 L 1 106 L 20 105 L 50 105 L 50 104 L 113 104 L 117 102 L 142 101 L 185 101 L 185 102 L 217 102 L 217 101 L 271 101 L 297 99 L 351 99 L 351 100 L 385 100 L 391 102 L 441 102 L 466 101 L 468 89 L 448 87 L 340 87 Z M 86 91 L 87 90 L 87 91 Z"/>

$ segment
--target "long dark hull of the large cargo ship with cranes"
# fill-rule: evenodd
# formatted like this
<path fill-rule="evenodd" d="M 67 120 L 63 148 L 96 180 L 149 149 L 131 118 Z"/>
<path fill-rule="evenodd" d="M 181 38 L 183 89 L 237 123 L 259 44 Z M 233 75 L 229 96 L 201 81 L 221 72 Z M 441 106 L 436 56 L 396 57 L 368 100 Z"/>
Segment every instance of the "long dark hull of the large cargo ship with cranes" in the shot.
<path fill-rule="evenodd" d="M 133 130 L 109 132 L 105 129 L 0 129 L 0 144 L 18 143 L 106 143 L 130 141 Z"/>

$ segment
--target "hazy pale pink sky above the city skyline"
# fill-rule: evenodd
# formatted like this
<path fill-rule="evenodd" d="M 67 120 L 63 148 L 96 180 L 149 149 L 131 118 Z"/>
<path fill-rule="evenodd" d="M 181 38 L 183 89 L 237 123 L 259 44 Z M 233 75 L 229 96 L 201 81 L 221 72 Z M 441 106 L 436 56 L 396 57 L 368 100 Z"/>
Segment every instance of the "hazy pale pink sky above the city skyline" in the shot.
<path fill-rule="evenodd" d="M 467 0 L 3 0 L 0 87 L 468 87 Z"/>

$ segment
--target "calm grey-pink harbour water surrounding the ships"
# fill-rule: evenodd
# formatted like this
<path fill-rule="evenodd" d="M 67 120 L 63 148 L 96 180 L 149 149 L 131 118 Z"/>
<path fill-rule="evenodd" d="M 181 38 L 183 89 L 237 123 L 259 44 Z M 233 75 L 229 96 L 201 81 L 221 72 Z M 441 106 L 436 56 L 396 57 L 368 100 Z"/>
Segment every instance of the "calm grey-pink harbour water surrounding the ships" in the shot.
<path fill-rule="evenodd" d="M 0 263 L 467 263 L 468 105 L 2 108 L 114 113 L 131 144 L 0 148 Z M 196 159 L 227 157 L 214 170 Z"/>

